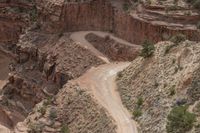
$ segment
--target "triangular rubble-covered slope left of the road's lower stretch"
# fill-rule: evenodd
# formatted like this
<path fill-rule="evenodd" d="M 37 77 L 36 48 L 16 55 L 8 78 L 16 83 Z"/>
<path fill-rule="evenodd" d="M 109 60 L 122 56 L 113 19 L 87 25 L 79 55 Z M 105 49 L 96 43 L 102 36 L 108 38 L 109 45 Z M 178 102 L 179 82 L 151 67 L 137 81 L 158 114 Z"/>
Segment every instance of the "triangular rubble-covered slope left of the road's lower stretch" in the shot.
<path fill-rule="evenodd" d="M 16 133 L 35 130 L 50 133 L 61 130 L 72 133 L 116 133 L 107 112 L 84 89 L 72 82 L 66 84 L 55 99 L 36 105 L 33 113 L 15 128 Z"/>

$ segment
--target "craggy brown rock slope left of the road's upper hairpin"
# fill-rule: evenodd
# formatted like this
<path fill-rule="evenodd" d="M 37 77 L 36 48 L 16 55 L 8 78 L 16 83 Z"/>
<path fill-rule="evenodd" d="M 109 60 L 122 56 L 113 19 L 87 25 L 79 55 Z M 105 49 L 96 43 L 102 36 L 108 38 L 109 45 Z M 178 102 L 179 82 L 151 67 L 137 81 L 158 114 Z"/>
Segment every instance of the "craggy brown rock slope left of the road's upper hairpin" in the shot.
<path fill-rule="evenodd" d="M 15 51 L 17 63 L 1 90 L 0 106 L 10 116 L 20 116 L 17 122 L 23 121 L 35 104 L 57 94 L 68 80 L 104 63 L 70 40 L 69 34 L 29 31 L 21 36 Z"/>

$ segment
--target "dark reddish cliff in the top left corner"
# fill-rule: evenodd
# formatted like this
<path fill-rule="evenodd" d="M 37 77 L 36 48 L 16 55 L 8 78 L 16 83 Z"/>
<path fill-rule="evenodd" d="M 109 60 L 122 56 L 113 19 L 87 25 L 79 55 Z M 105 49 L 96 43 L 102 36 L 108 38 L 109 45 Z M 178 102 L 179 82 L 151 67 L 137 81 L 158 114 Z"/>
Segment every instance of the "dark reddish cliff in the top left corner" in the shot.
<path fill-rule="evenodd" d="M 26 1 L 0 2 L 0 43 L 17 43 L 19 35 L 30 24 L 32 8 L 33 5 Z"/>

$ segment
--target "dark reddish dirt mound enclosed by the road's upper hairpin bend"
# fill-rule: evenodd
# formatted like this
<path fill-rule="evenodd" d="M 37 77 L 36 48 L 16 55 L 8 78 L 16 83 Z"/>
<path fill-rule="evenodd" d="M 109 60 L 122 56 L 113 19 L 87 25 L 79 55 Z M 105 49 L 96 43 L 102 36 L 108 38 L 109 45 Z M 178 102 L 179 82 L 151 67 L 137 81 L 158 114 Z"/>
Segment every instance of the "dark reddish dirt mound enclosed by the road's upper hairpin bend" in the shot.
<path fill-rule="evenodd" d="M 118 43 L 109 35 L 100 37 L 94 33 L 89 33 L 85 38 L 111 61 L 133 61 L 139 54 L 138 47 Z"/>

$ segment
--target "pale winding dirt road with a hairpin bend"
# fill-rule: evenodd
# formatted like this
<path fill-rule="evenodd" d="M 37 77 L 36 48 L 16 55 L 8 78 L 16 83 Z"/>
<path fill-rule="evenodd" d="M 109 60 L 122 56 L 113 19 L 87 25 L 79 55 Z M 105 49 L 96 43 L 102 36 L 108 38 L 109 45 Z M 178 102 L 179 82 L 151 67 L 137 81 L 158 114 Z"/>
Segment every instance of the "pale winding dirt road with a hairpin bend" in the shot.
<path fill-rule="evenodd" d="M 91 52 L 95 53 L 97 56 L 101 55 L 98 50 L 85 40 L 85 35 L 88 33 L 91 32 L 75 32 L 71 35 L 71 38 L 74 41 L 79 42 L 80 45 L 91 50 Z M 103 32 L 92 33 L 100 36 L 108 34 Z M 126 41 L 118 39 L 112 35 L 111 38 L 123 44 L 126 43 L 127 45 L 130 45 Z M 101 57 L 104 56 L 101 55 Z M 107 58 L 104 57 L 104 59 Z M 116 122 L 118 133 L 137 133 L 137 125 L 132 120 L 130 113 L 123 106 L 115 83 L 116 74 L 125 69 L 129 64 L 129 62 L 108 62 L 108 64 L 90 69 L 83 76 L 77 79 L 78 84 L 81 87 L 87 88 L 97 102 L 112 116 Z"/>

